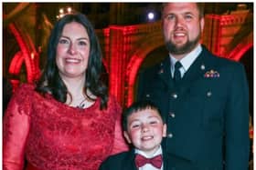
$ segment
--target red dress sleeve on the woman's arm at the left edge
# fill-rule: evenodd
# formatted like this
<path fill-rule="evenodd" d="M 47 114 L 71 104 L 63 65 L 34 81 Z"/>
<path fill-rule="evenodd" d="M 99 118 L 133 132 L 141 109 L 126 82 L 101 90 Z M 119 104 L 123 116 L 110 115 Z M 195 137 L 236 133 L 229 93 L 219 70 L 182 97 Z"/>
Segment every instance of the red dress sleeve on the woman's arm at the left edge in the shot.
<path fill-rule="evenodd" d="M 13 95 L 3 124 L 3 169 L 20 170 L 24 165 L 24 152 L 29 129 L 27 93 L 18 90 Z"/>

